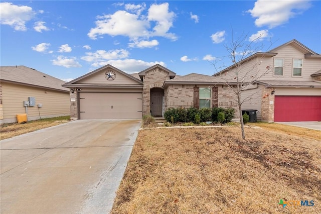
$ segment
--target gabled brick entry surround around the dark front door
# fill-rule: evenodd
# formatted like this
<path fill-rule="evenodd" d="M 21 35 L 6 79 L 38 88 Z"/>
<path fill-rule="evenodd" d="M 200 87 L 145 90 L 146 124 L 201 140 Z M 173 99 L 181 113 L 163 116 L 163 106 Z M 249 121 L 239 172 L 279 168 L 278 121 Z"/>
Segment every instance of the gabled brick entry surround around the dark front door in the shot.
<path fill-rule="evenodd" d="M 170 75 L 161 68 L 154 68 L 145 72 L 142 89 L 142 115 L 150 115 L 150 88 L 163 88 L 165 80 L 169 80 Z"/>

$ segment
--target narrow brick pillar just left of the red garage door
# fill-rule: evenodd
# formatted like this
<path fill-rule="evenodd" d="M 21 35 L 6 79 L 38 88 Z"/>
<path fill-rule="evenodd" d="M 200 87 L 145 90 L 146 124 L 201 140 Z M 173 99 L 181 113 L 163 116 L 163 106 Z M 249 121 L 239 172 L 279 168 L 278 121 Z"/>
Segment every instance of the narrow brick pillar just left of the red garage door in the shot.
<path fill-rule="evenodd" d="M 261 121 L 274 122 L 274 94 L 271 94 L 273 88 L 262 89 L 262 110 Z"/>

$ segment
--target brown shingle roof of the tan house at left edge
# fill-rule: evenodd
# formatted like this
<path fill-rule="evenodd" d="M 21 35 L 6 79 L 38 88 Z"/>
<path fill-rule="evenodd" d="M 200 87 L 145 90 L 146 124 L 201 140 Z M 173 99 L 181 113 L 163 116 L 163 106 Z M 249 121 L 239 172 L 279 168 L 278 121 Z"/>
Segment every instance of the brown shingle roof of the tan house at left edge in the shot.
<path fill-rule="evenodd" d="M 1 66 L 1 81 L 11 82 L 21 85 L 48 88 L 60 91 L 69 91 L 61 85 L 65 81 L 50 76 L 46 73 L 37 71 L 23 65 L 20 66 Z"/>

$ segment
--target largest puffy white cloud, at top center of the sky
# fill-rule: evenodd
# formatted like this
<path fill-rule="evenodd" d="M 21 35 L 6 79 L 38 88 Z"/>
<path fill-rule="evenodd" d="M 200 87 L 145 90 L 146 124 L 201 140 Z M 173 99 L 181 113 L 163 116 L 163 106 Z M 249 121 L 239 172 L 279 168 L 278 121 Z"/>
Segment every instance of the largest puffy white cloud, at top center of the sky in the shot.
<path fill-rule="evenodd" d="M 146 15 L 140 14 L 145 10 L 144 4 L 126 4 L 125 8 L 134 14 L 120 10 L 114 14 L 97 16 L 96 26 L 90 29 L 88 37 L 97 39 L 97 36 L 107 34 L 127 36 L 130 40 L 148 39 L 153 36 L 177 40 L 175 34 L 168 32 L 173 27 L 175 18 L 175 13 L 169 12 L 168 3 L 152 4 Z"/>

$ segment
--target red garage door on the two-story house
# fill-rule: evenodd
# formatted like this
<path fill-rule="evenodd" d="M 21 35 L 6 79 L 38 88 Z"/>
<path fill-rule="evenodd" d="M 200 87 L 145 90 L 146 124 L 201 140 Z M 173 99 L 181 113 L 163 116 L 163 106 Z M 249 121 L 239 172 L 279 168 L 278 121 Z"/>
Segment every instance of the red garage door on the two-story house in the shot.
<path fill-rule="evenodd" d="M 321 121 L 321 96 L 275 96 L 274 121 Z"/>

